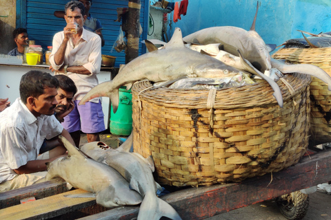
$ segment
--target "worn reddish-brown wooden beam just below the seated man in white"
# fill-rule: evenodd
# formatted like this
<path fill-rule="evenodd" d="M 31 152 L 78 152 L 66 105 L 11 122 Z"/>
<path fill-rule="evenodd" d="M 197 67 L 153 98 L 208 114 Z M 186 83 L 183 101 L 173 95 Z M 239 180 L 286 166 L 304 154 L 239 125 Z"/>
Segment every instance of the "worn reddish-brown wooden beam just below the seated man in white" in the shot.
<path fill-rule="evenodd" d="M 66 181 L 63 179 L 53 179 L 52 181 L 45 181 L 40 184 L 2 192 L 0 193 L 0 209 L 19 205 L 21 199 L 28 197 L 42 199 L 66 191 L 68 191 Z"/>

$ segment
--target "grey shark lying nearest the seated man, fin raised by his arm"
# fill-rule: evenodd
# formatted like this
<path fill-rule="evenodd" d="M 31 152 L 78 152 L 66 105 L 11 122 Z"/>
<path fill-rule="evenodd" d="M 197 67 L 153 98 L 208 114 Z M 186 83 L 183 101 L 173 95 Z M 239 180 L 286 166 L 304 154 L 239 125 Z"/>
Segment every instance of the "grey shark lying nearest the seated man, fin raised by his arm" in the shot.
<path fill-rule="evenodd" d="M 61 177 L 74 188 L 95 192 L 97 203 L 108 208 L 141 203 L 141 195 L 130 190 L 128 181 L 114 168 L 84 157 L 65 137 L 59 138 L 68 157 L 59 157 L 49 164 L 46 180 Z"/>

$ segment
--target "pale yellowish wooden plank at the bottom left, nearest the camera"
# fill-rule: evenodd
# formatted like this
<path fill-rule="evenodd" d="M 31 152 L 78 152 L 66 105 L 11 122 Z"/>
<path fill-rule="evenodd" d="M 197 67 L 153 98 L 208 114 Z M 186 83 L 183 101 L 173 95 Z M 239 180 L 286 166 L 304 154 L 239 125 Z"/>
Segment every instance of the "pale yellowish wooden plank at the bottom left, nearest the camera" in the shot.
<path fill-rule="evenodd" d="M 0 210 L 0 219 L 48 219 L 95 204 L 95 197 L 72 198 L 66 195 L 81 194 L 86 190 L 71 190 L 36 201 Z"/>

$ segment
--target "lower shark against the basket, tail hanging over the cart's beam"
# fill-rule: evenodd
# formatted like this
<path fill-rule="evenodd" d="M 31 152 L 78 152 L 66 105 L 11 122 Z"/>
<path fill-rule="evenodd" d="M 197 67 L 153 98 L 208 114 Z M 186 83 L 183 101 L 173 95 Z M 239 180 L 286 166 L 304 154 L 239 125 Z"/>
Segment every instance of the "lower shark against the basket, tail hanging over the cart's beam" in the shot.
<path fill-rule="evenodd" d="M 156 195 L 157 185 L 152 175 L 154 171 L 152 157 L 146 159 L 138 153 L 129 153 L 132 142 L 131 134 L 117 149 L 107 148 L 106 144 L 101 142 L 90 142 L 81 146 L 81 151 L 119 171 L 126 180 L 130 181 L 130 187 L 141 194 L 143 201 L 139 208 L 138 220 L 159 220 L 163 216 L 175 220 L 181 219 L 172 206 Z"/>

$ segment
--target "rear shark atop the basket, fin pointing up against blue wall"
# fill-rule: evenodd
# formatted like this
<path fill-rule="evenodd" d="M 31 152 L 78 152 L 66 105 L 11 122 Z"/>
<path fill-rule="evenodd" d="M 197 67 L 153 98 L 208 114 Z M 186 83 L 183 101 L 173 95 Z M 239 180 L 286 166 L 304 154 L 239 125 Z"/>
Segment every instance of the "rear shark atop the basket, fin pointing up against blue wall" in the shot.
<path fill-rule="evenodd" d="M 259 2 L 257 3 L 257 12 L 258 10 Z M 255 31 L 257 12 L 249 31 L 233 26 L 205 28 L 185 36 L 183 41 L 187 43 L 201 43 L 203 45 L 221 43 L 223 50 L 235 56 L 239 56 L 237 52 L 239 50 L 243 57 L 264 74 L 265 71 L 268 72 L 271 69 L 270 54 L 265 42 Z"/>

